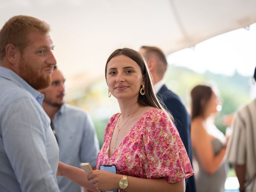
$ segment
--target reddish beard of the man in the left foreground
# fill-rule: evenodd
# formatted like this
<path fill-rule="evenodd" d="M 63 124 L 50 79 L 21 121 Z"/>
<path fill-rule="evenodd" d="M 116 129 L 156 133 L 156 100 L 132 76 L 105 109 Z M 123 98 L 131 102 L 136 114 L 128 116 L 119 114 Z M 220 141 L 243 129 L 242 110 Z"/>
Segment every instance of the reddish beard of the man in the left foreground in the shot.
<path fill-rule="evenodd" d="M 50 74 L 44 77 L 44 68 L 40 71 L 34 70 L 31 65 L 27 64 L 22 58 L 20 61 L 19 76 L 23 78 L 35 90 L 47 88 L 51 84 Z"/>

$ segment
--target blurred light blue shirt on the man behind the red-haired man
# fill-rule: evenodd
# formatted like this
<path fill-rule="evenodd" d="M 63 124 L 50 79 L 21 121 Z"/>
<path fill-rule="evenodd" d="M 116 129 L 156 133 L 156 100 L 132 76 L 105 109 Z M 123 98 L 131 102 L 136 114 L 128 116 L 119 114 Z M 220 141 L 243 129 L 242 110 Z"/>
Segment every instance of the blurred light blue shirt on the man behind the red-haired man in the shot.
<path fill-rule="evenodd" d="M 81 162 L 89 162 L 92 167 L 96 167 L 99 143 L 88 113 L 63 104 L 55 114 L 53 123 L 60 148 L 60 161 L 78 168 Z M 65 177 L 59 176 L 57 180 L 61 192 L 81 191 L 80 186 Z"/>

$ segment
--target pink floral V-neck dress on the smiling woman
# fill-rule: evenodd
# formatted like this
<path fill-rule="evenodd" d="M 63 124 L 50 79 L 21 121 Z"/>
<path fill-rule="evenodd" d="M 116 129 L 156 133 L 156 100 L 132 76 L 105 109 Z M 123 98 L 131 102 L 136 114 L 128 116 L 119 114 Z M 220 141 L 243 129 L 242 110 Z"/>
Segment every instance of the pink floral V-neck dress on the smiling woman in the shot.
<path fill-rule="evenodd" d="M 178 130 L 158 108 L 145 112 L 114 153 L 108 156 L 119 115 L 114 114 L 108 122 L 104 144 L 98 154 L 97 169 L 100 165 L 114 164 L 118 174 L 165 178 L 169 183 L 179 182 L 194 174 Z"/>

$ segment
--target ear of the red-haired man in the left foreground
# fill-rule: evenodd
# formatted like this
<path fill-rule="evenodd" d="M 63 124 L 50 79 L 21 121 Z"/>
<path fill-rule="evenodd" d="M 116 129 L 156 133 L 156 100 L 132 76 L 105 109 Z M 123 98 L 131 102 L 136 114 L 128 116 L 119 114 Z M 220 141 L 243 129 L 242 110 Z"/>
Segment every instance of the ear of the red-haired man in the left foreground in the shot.
<path fill-rule="evenodd" d="M 6 59 L 9 61 L 11 65 L 16 65 L 20 62 L 20 50 L 16 48 L 13 44 L 8 44 L 5 48 L 6 51 Z"/>

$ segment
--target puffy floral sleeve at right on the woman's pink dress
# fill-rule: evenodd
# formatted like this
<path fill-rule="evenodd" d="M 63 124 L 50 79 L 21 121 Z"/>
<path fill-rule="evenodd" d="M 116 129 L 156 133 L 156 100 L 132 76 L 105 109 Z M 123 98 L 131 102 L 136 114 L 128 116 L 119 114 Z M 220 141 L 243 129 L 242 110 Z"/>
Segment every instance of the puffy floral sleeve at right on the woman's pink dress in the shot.
<path fill-rule="evenodd" d="M 186 149 L 168 116 L 162 110 L 154 110 L 144 123 L 147 178 L 165 178 L 169 183 L 176 183 L 192 176 Z"/>

